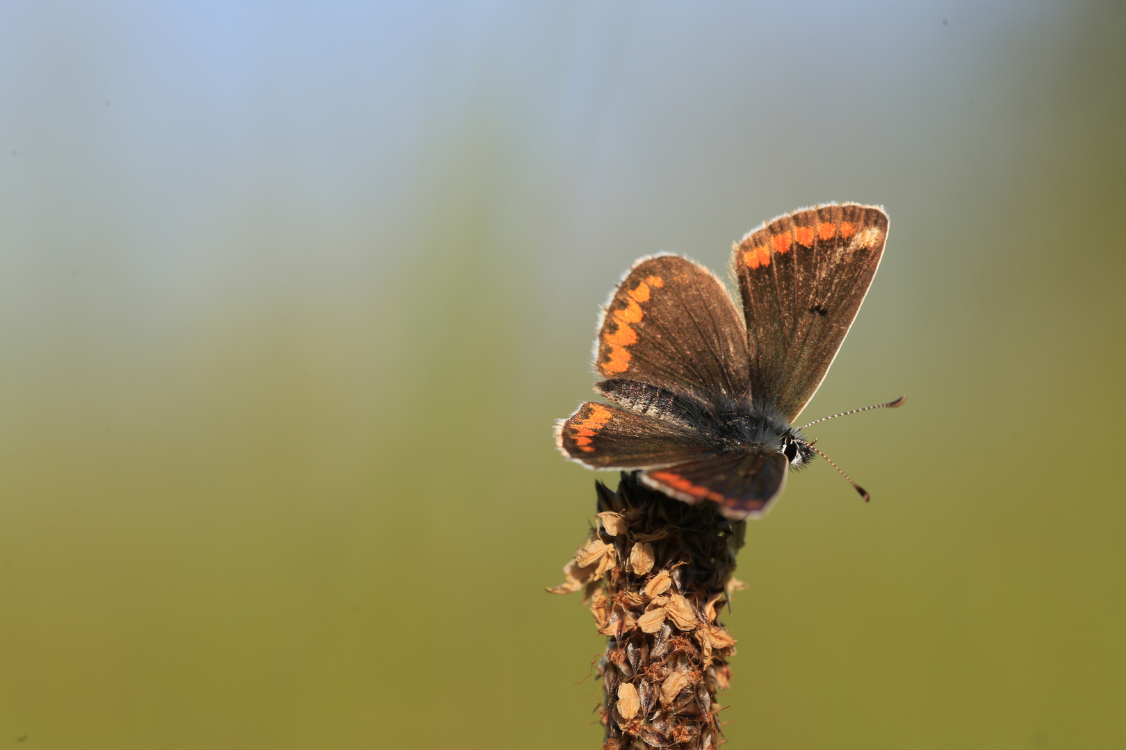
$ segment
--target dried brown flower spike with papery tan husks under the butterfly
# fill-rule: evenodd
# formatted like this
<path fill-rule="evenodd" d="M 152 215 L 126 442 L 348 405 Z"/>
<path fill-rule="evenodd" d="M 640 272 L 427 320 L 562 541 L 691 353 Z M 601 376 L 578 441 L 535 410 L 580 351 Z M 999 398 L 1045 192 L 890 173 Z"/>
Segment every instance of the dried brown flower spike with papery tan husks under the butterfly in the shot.
<path fill-rule="evenodd" d="M 564 568 L 586 589 L 600 633 L 604 750 L 709 750 L 723 742 L 716 690 L 731 679 L 735 639 L 720 622 L 744 523 L 713 503 L 690 506 L 623 473 L 598 491 L 599 527 Z"/>

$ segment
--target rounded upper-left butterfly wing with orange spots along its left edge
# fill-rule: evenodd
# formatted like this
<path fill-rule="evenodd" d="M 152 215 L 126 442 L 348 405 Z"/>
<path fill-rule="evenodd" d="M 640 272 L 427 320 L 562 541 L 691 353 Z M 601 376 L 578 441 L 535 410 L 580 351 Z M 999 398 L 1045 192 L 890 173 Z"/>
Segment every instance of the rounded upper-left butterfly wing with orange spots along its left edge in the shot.
<path fill-rule="evenodd" d="M 747 394 L 747 334 L 739 311 L 707 269 L 679 255 L 634 264 L 602 313 L 595 367 L 704 403 Z"/>

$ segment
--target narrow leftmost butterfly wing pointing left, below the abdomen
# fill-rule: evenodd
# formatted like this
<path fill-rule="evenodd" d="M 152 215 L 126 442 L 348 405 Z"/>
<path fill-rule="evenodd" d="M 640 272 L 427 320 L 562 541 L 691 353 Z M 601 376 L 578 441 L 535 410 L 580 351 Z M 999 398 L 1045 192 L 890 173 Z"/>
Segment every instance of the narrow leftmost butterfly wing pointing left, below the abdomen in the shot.
<path fill-rule="evenodd" d="M 587 401 L 555 427 L 560 451 L 591 469 L 667 467 L 713 452 L 691 427 Z"/>

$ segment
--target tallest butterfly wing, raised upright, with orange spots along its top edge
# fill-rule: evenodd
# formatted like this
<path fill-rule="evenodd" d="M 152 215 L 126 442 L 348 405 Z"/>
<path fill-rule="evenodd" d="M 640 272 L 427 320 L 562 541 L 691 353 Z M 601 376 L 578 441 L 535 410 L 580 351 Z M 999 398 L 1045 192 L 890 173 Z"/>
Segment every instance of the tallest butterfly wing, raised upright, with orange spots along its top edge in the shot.
<path fill-rule="evenodd" d="M 856 318 L 887 238 L 875 206 L 819 206 L 779 217 L 735 245 L 750 391 L 789 422 L 817 390 Z"/>

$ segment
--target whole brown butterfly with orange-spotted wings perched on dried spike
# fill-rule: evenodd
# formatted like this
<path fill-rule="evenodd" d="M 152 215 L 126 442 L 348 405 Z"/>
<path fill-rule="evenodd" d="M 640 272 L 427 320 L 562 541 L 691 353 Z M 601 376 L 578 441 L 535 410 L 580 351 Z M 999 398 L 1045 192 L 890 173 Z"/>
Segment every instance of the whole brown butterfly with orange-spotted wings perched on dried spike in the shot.
<path fill-rule="evenodd" d="M 730 518 L 762 515 L 789 470 L 824 457 L 802 435 L 810 425 L 793 423 L 837 356 L 886 240 L 887 215 L 859 204 L 760 225 L 733 246 L 742 315 L 704 266 L 641 259 L 598 324 L 595 392 L 609 404 L 587 401 L 558 421 L 558 449 L 592 469 L 637 470 L 646 486 L 712 500 Z"/>

